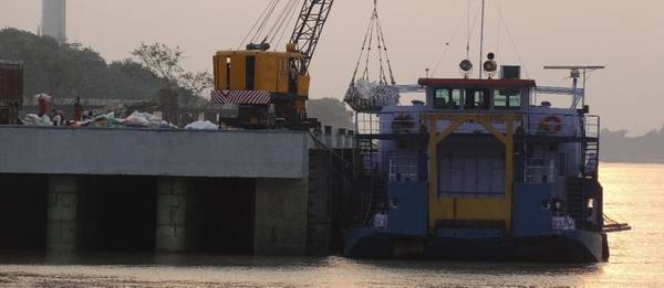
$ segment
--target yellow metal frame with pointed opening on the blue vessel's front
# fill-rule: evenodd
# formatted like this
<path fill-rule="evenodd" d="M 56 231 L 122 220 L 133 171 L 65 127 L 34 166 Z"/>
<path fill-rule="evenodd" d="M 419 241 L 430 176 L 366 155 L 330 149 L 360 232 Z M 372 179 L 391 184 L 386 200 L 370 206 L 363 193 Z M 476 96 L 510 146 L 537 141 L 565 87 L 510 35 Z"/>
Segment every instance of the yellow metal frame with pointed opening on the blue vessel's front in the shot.
<path fill-rule="evenodd" d="M 429 122 L 428 166 L 428 227 L 436 233 L 437 221 L 504 221 L 505 230 L 511 234 L 511 206 L 513 182 L 513 134 L 515 122 L 522 117 L 516 114 L 430 114 L 424 115 Z M 438 132 L 438 121 L 450 125 Z M 505 145 L 505 198 L 502 199 L 459 199 L 438 196 L 438 145 L 468 121 L 480 124 L 496 139 Z M 506 134 L 500 132 L 491 122 L 505 122 Z"/>

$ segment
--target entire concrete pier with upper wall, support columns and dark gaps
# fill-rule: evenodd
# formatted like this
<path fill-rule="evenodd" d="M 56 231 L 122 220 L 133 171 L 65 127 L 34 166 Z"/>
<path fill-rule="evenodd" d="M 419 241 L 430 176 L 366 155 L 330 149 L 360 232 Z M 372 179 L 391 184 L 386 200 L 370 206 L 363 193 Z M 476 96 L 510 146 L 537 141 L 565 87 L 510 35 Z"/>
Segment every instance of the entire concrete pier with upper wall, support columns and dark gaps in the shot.
<path fill-rule="evenodd" d="M 338 238 L 345 168 L 330 152 L 310 167 L 305 132 L 0 126 L 0 188 L 43 179 L 31 192 L 41 207 L 9 198 L 42 213 L 24 221 L 42 233 L 9 231 L 0 249 L 37 235 L 30 247 L 58 252 L 301 256 Z"/>

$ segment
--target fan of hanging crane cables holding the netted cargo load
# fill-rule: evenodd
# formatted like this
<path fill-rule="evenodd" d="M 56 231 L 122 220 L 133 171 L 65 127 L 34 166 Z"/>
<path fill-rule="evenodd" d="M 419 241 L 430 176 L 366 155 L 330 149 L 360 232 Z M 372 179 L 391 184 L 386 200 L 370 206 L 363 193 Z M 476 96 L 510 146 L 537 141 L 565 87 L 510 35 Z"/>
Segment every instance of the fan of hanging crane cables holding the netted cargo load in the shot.
<path fill-rule="evenodd" d="M 387 50 L 387 44 L 385 41 L 385 35 L 383 33 L 383 28 L 380 22 L 378 9 L 377 9 L 377 0 L 374 0 L 374 9 L 369 21 L 369 26 L 366 29 L 366 33 L 364 34 L 364 41 L 362 42 L 362 49 L 360 50 L 360 56 L 357 57 L 357 63 L 355 65 L 355 71 L 353 72 L 353 78 L 351 79 L 351 86 L 354 86 L 355 79 L 357 78 L 357 72 L 360 71 L 360 65 L 364 60 L 364 70 L 362 72 L 361 79 L 369 81 L 370 79 L 370 66 L 371 66 L 371 55 L 372 47 L 374 45 L 374 38 L 377 43 L 378 50 L 378 84 L 381 85 L 396 85 L 396 81 L 394 78 L 394 72 L 392 68 L 392 61 L 390 60 L 390 54 Z M 385 70 L 385 65 L 387 65 L 387 70 Z M 390 82 L 387 82 L 387 74 L 390 75 Z"/>

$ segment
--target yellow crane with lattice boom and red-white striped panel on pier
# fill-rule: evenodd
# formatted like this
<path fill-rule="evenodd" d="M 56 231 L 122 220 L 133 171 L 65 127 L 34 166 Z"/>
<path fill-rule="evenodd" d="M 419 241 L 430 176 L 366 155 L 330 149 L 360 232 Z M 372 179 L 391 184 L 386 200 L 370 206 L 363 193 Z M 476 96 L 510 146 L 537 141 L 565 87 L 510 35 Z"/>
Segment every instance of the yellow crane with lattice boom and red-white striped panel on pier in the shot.
<path fill-rule="evenodd" d="M 309 65 L 334 0 L 304 0 L 286 51 L 270 51 L 274 32 L 288 21 L 289 10 L 297 12 L 300 1 L 289 0 L 276 28 L 259 43 L 251 42 L 246 50 L 219 51 L 214 56 L 212 100 L 243 106 L 245 124 L 262 126 L 270 113 L 283 118 L 289 127 L 307 120 Z M 272 0 L 255 24 L 256 35 L 261 34 L 278 2 Z"/>

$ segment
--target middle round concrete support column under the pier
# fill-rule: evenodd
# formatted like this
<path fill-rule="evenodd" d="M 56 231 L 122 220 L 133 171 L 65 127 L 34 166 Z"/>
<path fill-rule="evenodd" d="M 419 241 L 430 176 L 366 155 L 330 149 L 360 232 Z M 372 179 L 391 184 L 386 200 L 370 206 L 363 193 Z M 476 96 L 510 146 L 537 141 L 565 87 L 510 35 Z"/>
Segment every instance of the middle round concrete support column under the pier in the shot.
<path fill-rule="evenodd" d="M 186 248 L 187 181 L 163 177 L 157 184 L 156 249 L 184 252 Z"/>

